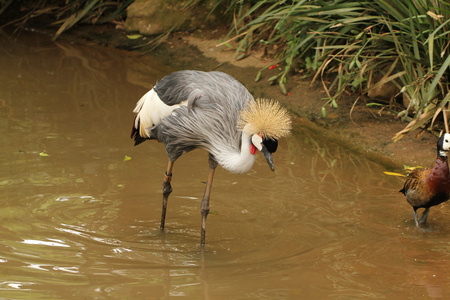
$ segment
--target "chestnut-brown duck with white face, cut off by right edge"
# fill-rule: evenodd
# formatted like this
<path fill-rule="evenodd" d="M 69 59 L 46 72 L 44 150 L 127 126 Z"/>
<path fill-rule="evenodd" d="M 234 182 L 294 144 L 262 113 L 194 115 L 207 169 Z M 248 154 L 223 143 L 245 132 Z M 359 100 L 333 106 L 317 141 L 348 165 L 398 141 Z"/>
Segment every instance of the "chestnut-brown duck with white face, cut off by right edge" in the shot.
<path fill-rule="evenodd" d="M 430 207 L 450 198 L 450 171 L 447 153 L 450 149 L 450 134 L 443 134 L 437 142 L 437 158 L 431 169 L 417 169 L 409 174 L 400 190 L 414 209 L 416 226 L 427 222 Z M 425 208 L 419 220 L 417 210 Z"/>

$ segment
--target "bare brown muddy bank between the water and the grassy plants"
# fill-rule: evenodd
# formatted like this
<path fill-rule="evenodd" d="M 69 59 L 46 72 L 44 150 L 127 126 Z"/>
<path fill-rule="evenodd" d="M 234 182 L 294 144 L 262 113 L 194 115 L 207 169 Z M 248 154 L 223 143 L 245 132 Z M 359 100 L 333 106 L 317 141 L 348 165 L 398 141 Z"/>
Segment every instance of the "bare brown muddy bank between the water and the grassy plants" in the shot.
<path fill-rule="evenodd" d="M 266 70 L 262 79 L 255 82 L 258 70 L 268 64 L 272 65 L 274 61 L 263 58 L 262 53 L 253 53 L 236 61 L 234 50 L 222 43 L 226 33 L 225 29 L 176 33 L 152 52 L 173 69 L 219 70 L 229 73 L 243 82 L 255 97 L 270 97 L 281 101 L 296 115 L 295 121 L 302 126 L 362 153 L 388 169 L 402 171 L 403 165 L 429 166 L 433 163 L 436 136 L 427 131 L 416 130 L 394 143 L 392 137 L 407 123 L 387 110 L 367 106 L 365 99 L 359 99 L 356 103 L 356 96 L 341 99 L 338 109 L 328 108 L 328 117 L 322 118 L 321 108 L 325 103 L 323 98 L 326 93 L 320 83 L 311 85 L 309 79 L 291 77 L 286 84 L 289 95 L 283 95 L 278 85 L 271 86 L 267 82 L 267 78 L 276 74 L 276 68 Z M 126 32 L 113 26 L 79 26 L 63 38 L 138 52 L 146 50 L 136 46 L 149 40 L 144 36 L 130 39 Z"/>

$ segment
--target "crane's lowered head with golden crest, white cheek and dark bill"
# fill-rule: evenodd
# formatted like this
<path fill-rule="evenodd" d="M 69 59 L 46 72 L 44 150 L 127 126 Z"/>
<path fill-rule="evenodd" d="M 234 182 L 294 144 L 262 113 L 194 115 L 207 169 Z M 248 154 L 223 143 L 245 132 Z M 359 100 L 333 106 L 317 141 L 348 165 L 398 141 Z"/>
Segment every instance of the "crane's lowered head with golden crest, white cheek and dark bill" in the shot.
<path fill-rule="evenodd" d="M 250 152 L 259 150 L 273 171 L 272 153 L 278 148 L 278 139 L 288 135 L 292 127 L 287 110 L 273 100 L 250 101 L 241 111 L 238 127 L 251 135 Z"/>

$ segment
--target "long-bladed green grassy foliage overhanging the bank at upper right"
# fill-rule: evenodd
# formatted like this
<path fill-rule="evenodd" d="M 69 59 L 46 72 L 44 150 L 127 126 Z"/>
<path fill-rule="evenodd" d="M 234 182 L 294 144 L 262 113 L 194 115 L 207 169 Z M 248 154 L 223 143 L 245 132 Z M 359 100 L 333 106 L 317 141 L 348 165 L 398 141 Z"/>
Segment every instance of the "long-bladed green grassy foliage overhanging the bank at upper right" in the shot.
<path fill-rule="evenodd" d="M 219 2 L 222 2 L 218 0 Z M 284 68 L 270 78 L 286 93 L 290 73 L 300 68 L 321 80 L 337 107 L 345 92 L 366 93 L 374 76 L 394 83 L 410 99 L 399 113 L 413 113 L 404 133 L 434 121 L 450 98 L 450 4 L 442 0 L 231 1 L 242 35 L 236 57 L 254 47 L 280 49 Z M 247 7 L 247 9 L 244 9 Z M 262 70 L 263 71 L 263 70 Z M 261 78 L 261 72 L 257 78 Z M 331 82 L 328 82 L 331 80 Z"/>

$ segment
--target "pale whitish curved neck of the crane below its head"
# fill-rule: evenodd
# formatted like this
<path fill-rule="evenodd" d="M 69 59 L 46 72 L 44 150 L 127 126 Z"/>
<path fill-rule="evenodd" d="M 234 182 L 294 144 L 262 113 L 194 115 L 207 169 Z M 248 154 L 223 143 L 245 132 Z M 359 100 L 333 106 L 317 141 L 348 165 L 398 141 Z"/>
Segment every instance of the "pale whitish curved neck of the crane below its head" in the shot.
<path fill-rule="evenodd" d="M 246 173 L 254 162 L 255 156 L 250 153 L 251 134 L 245 130 L 241 135 L 241 149 L 217 149 L 211 151 L 216 161 L 227 171 L 231 173 Z M 216 152 L 216 153 L 214 153 Z"/>

